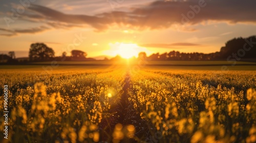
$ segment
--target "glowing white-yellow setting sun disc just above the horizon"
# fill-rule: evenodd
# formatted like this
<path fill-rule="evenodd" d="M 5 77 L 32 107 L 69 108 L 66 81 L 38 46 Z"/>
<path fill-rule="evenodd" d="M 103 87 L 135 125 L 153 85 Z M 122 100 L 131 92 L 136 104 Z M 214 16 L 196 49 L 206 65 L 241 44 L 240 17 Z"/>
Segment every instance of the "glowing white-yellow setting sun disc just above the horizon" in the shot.
<path fill-rule="evenodd" d="M 138 56 L 138 45 L 134 43 L 120 43 L 116 51 L 119 56 L 125 59 Z"/>

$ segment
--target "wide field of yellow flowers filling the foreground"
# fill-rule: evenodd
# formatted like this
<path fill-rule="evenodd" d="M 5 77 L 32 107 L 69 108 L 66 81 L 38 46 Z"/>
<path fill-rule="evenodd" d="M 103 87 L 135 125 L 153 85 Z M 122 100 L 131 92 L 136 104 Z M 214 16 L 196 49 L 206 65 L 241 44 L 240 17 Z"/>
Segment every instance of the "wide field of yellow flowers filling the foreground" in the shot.
<path fill-rule="evenodd" d="M 0 94 L 8 91 L 8 139 L 256 141 L 254 63 L 173 64 L 176 66 L 152 62 L 136 70 L 134 65 L 66 63 L 47 70 L 42 70 L 44 64 L 1 65 Z M 222 65 L 229 70 L 222 71 Z M 5 103 L 1 96 L 1 142 L 6 141 Z"/>

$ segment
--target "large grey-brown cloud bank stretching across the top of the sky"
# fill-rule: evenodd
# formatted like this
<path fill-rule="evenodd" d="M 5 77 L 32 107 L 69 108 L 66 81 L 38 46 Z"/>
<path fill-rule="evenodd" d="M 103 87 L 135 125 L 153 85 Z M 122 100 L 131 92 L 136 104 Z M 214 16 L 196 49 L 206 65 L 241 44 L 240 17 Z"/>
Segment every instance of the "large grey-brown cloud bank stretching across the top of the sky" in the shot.
<path fill-rule="evenodd" d="M 201 1 L 156 1 L 130 7 L 130 11 L 110 11 L 97 15 L 67 14 L 45 6 L 31 5 L 22 19 L 60 29 L 90 26 L 96 32 L 116 26 L 138 31 L 173 28 L 194 32 L 197 29 L 190 26 L 207 22 L 256 23 L 256 1 L 205 0 L 205 7 L 199 7 L 198 2 Z"/>

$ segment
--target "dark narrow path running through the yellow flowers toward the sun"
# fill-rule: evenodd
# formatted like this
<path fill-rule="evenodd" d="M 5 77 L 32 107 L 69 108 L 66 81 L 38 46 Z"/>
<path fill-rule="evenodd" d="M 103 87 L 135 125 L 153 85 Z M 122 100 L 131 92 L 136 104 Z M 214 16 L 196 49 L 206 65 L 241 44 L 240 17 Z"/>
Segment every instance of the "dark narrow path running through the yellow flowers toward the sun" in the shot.
<path fill-rule="evenodd" d="M 135 136 L 138 138 L 146 138 L 148 135 L 148 126 L 145 121 L 140 118 L 140 115 L 133 107 L 133 104 L 129 101 L 128 90 L 131 84 L 131 74 L 127 71 L 124 79 L 123 94 L 120 101 L 117 104 L 111 106 L 110 113 L 113 116 L 103 118 L 99 124 L 100 128 L 100 140 L 102 142 L 112 142 L 112 134 L 116 124 L 120 123 L 123 127 L 127 125 L 134 125 L 136 129 Z M 131 138 L 124 138 L 121 142 L 137 142 Z"/>

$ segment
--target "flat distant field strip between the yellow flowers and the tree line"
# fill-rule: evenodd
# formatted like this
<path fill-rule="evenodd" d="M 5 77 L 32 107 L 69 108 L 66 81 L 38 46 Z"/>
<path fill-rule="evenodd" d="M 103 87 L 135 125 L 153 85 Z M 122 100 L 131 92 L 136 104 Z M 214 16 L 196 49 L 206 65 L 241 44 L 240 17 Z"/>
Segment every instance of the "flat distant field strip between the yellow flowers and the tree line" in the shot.
<path fill-rule="evenodd" d="M 51 62 L 35 62 L 27 65 L 0 65 L 0 69 L 33 69 L 44 70 L 49 66 L 56 69 L 106 69 L 120 66 L 139 67 L 140 69 L 160 69 L 160 70 L 222 70 L 222 66 L 227 66 L 228 70 L 256 70 L 256 62 L 238 61 L 236 65 L 227 61 L 59 61 L 58 66 L 54 66 Z M 145 64 L 145 65 L 143 65 Z"/>

